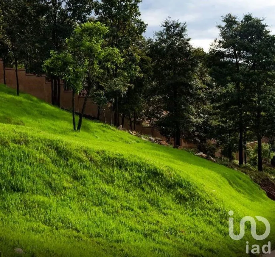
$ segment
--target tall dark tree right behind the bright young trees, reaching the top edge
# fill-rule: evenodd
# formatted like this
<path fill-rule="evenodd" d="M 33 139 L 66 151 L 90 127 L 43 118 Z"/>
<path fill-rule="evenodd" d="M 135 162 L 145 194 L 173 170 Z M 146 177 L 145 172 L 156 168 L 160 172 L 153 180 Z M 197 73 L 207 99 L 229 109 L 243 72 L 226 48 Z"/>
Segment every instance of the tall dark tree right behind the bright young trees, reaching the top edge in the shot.
<path fill-rule="evenodd" d="M 140 42 L 146 30 L 146 24 L 141 20 L 139 11 L 140 0 L 103 0 L 95 1 L 97 20 L 109 27 L 105 36 L 108 46 L 118 48 L 124 62 L 117 66 L 106 83 L 108 94 L 106 98 L 112 102 L 115 111 L 114 125 L 119 126 L 119 114 L 131 112 L 134 109 L 128 90 L 136 86 L 136 80 L 142 77 L 140 69 Z M 136 91 L 138 92 L 138 90 Z M 125 112 L 125 108 L 130 109 Z M 130 115 L 130 114 L 129 114 Z"/>

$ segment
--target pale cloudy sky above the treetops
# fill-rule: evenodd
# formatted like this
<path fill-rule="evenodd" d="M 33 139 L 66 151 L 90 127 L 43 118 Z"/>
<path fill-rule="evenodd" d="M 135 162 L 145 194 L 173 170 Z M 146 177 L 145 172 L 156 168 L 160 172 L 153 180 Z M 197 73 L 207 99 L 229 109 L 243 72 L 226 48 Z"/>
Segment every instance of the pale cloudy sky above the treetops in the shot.
<path fill-rule="evenodd" d="M 251 12 L 265 17 L 270 30 L 275 33 L 275 0 L 143 0 L 140 5 L 142 19 L 148 23 L 145 35 L 152 37 L 161 22 L 170 16 L 187 22 L 191 43 L 208 51 L 210 43 L 218 37 L 216 25 L 228 12 L 242 17 Z"/>

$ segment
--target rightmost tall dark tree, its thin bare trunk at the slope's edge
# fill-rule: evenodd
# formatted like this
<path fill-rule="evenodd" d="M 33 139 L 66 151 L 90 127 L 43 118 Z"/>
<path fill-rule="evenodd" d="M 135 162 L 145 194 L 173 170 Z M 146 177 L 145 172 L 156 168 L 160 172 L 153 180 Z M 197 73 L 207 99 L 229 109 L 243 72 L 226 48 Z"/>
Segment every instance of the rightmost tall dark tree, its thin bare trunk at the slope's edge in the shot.
<path fill-rule="evenodd" d="M 244 15 L 241 22 L 243 63 L 249 67 L 245 82 L 249 85 L 248 109 L 252 127 L 258 141 L 258 170 L 262 171 L 262 137 L 270 131 L 275 102 L 275 36 L 263 19 L 251 14 Z"/>

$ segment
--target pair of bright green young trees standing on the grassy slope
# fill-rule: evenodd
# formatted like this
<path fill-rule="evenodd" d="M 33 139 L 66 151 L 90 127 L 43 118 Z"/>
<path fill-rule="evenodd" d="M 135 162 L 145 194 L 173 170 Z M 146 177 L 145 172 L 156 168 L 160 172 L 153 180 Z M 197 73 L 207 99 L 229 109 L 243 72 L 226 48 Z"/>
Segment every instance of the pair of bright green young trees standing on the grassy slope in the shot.
<path fill-rule="evenodd" d="M 85 90 L 86 96 L 78 121 L 81 129 L 82 117 L 89 97 L 98 104 L 107 100 L 108 82 L 112 90 L 123 90 L 123 76 L 113 78 L 113 70 L 123 63 L 117 48 L 105 46 L 103 39 L 108 28 L 100 22 L 87 22 L 77 26 L 72 36 L 66 40 L 66 50 L 58 54 L 51 51 L 51 57 L 44 62 L 43 69 L 51 76 L 63 78 L 72 88 L 72 115 L 75 129 L 74 96 Z M 117 70 L 119 73 L 120 70 Z M 105 85 L 105 87 L 103 87 Z"/>

